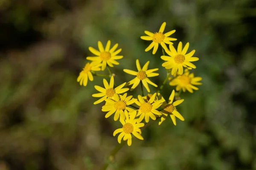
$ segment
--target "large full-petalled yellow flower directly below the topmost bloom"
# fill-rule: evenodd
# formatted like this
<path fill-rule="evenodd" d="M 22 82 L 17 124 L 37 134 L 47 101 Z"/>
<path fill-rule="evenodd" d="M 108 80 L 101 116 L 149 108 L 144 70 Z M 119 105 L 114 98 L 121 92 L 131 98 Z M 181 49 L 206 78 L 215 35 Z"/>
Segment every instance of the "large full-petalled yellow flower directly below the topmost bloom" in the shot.
<path fill-rule="evenodd" d="M 177 51 L 173 47 L 173 45 L 169 45 L 170 50 L 166 50 L 166 53 L 171 56 L 161 56 L 161 59 L 167 61 L 162 64 L 163 67 L 166 69 L 172 68 L 172 75 L 174 75 L 177 70 L 179 71 L 179 74 L 183 74 L 183 67 L 186 68 L 196 68 L 194 64 L 192 64 L 192 61 L 197 61 L 198 57 L 192 57 L 195 54 L 195 50 L 192 50 L 189 54 L 186 54 L 186 52 L 189 49 L 189 42 L 186 43 L 184 48 L 182 49 L 182 42 L 179 43 Z"/>

